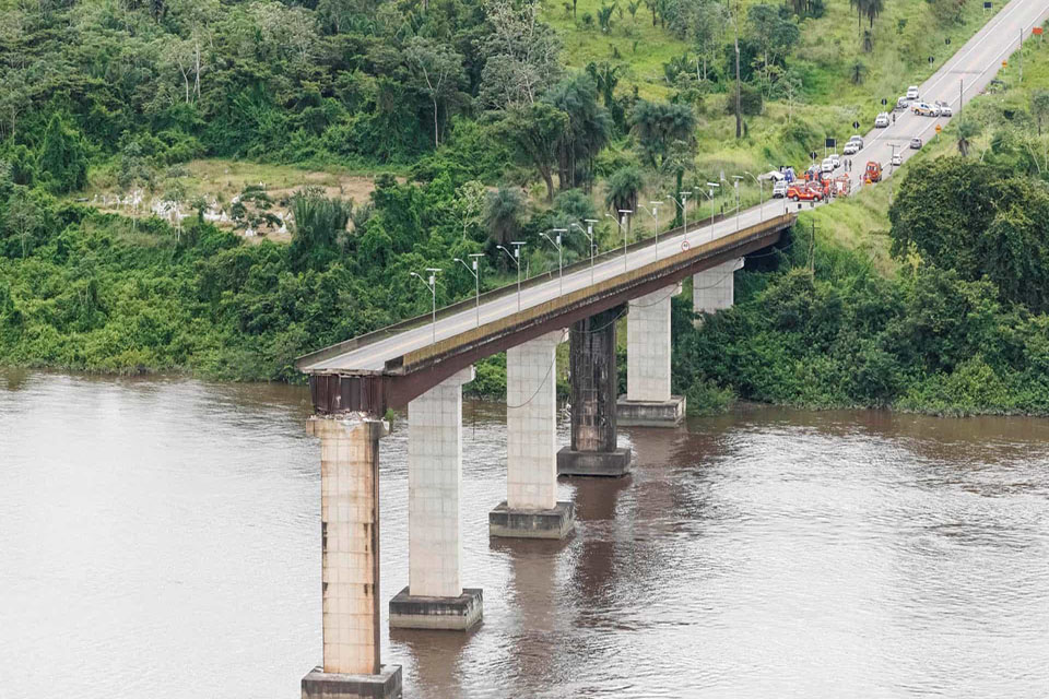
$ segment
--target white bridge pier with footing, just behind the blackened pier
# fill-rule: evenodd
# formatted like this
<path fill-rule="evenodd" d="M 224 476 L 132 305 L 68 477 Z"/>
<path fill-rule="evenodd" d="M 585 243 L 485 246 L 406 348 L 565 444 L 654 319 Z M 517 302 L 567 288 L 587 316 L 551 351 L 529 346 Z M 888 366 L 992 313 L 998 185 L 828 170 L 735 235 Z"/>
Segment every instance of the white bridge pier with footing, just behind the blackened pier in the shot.
<path fill-rule="evenodd" d="M 684 396 L 670 394 L 670 299 L 680 293 L 674 284 L 630 300 L 621 425 L 673 427 L 685 415 Z"/>

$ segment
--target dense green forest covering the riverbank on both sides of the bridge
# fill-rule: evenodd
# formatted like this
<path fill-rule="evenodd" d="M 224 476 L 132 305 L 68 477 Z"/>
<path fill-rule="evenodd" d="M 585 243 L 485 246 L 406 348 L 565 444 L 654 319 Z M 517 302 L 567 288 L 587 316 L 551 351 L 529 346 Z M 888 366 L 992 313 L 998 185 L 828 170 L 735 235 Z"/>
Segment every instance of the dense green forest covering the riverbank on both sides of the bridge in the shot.
<path fill-rule="evenodd" d="M 455 257 L 485 253 L 493 287 L 511 239 L 534 274 L 556 266 L 543 230 L 803 156 L 876 109 L 865 93 L 907 84 L 903 47 L 964 37 L 978 4 L 0 0 L 0 363 L 297 380 L 295 356 L 428 308 L 413 271 L 446 268 L 450 303 L 473 289 Z M 659 47 L 674 54 L 646 72 Z M 693 404 L 1049 410 L 1049 99 L 1010 94 L 952 126 L 957 156 L 923 154 L 893 186 L 894 273 L 821 236 L 742 273 L 738 307 L 699 330 L 675 306 Z M 871 104 L 833 107 L 842 95 Z M 299 187 L 279 218 L 266 182 L 229 201 L 192 190 L 200 158 L 350 168 L 373 187 L 357 201 Z M 85 194 L 102 187 L 133 210 L 99 211 Z M 174 216 L 140 211 L 143 196 Z M 287 241 L 245 237 L 285 223 Z M 567 244 L 566 261 L 587 249 Z M 503 390 L 498 362 L 475 391 Z"/>

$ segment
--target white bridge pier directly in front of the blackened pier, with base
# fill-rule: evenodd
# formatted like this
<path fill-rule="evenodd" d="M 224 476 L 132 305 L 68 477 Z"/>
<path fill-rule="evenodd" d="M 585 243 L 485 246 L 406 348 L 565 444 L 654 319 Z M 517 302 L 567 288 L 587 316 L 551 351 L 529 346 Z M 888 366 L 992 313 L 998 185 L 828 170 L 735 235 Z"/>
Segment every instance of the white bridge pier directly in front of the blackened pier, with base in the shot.
<path fill-rule="evenodd" d="M 571 502 L 557 501 L 556 351 L 565 331 L 506 352 L 506 500 L 488 512 L 492 536 L 563 538 Z"/>

